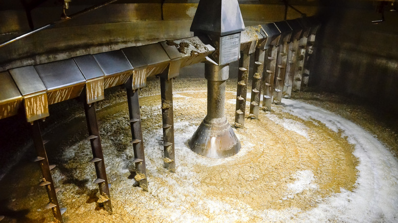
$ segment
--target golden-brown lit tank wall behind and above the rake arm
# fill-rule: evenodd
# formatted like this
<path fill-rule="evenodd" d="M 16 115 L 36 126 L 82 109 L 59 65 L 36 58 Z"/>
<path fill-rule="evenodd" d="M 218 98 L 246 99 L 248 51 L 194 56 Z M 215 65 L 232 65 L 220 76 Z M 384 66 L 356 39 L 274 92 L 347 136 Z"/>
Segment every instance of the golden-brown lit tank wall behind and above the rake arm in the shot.
<path fill-rule="evenodd" d="M 67 14 L 102 2 L 105 1 L 72 1 Z M 198 1 L 143 2 L 119 0 L 6 45 L 0 48 L 0 71 L 193 35 L 189 28 Z M 246 26 L 284 19 L 285 6 L 279 1 L 239 2 Z M 309 16 L 318 9 L 317 1 L 289 3 Z M 19 1 L 0 2 L 0 42 L 30 31 L 26 12 L 18 4 Z M 35 29 L 59 20 L 61 13 L 62 6 L 54 5 L 54 1 L 39 5 L 31 12 Z M 289 8 L 287 18 L 297 17 L 300 14 Z"/>

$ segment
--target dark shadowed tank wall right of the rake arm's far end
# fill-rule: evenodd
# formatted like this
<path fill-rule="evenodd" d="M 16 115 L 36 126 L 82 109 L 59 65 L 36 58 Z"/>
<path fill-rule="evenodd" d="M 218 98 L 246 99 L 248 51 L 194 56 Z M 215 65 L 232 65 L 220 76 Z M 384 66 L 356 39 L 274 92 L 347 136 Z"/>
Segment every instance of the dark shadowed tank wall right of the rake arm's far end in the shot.
<path fill-rule="evenodd" d="M 370 1 L 322 1 L 309 85 L 398 113 L 398 12 Z"/>

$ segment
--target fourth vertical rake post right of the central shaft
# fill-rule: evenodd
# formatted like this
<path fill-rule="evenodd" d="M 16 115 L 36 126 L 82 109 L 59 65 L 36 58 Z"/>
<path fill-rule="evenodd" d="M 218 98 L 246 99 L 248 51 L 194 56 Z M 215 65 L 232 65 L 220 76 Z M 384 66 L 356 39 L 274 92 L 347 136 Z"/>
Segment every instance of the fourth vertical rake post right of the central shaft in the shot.
<path fill-rule="evenodd" d="M 275 104 L 280 104 L 282 100 L 282 90 L 284 85 L 284 79 L 286 74 L 286 62 L 287 62 L 287 51 L 288 44 L 284 42 L 278 48 L 278 66 L 277 73 L 275 75 L 275 92 L 273 95 L 273 102 Z"/>

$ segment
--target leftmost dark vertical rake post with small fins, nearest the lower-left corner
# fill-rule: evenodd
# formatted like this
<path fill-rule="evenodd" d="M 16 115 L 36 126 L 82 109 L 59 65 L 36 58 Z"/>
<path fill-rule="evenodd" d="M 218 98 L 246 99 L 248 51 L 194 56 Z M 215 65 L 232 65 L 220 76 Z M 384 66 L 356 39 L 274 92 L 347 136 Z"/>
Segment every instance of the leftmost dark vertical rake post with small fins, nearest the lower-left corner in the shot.
<path fill-rule="evenodd" d="M 39 121 L 36 120 L 32 122 L 31 127 L 33 143 L 37 152 L 35 161 L 39 162 L 41 173 L 43 174 L 43 181 L 39 185 L 45 186 L 49 199 L 49 203 L 45 206 L 45 208 L 51 208 L 53 210 L 53 215 L 57 223 L 62 222 L 62 213 L 57 200 L 57 191 L 54 186 L 53 177 L 51 176 L 51 171 L 48 165 L 47 154 L 45 152 L 43 138 L 41 137 Z"/>

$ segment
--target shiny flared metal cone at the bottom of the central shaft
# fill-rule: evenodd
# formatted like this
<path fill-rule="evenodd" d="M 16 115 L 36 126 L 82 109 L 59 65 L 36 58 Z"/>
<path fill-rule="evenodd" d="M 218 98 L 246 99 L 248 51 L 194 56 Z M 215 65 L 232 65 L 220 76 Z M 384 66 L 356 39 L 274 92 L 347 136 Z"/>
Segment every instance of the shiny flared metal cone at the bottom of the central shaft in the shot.
<path fill-rule="evenodd" d="M 236 154 L 240 142 L 226 117 L 203 120 L 189 141 L 189 148 L 203 156 L 222 158 Z"/>

